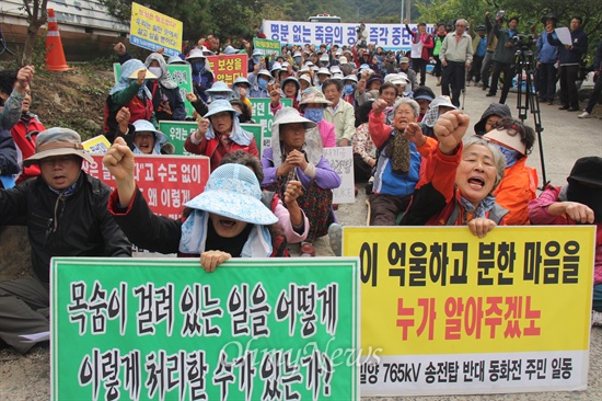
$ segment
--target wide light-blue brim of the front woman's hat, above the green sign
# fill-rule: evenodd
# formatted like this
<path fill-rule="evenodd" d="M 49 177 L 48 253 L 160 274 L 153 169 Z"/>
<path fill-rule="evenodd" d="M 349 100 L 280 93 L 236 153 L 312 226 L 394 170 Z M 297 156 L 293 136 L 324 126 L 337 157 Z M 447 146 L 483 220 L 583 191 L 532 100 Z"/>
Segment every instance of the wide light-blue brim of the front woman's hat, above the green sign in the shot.
<path fill-rule="evenodd" d="M 238 180 L 233 180 L 234 185 L 240 185 Z M 236 199 L 236 202 L 233 203 L 232 199 Z M 206 190 L 184 206 L 259 226 L 273 225 L 278 221 L 278 218 L 262 200 L 234 191 Z M 251 210 L 253 213 L 250 213 Z"/>

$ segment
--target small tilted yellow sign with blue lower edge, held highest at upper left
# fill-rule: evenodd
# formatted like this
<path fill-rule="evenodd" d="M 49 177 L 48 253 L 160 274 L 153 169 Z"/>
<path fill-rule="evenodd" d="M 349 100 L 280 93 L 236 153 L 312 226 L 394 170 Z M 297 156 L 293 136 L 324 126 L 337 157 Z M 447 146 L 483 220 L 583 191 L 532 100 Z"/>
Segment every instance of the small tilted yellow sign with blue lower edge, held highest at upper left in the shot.
<path fill-rule="evenodd" d="M 182 53 L 182 22 L 138 3 L 131 3 L 129 43 L 149 50 L 165 49 L 169 56 Z"/>

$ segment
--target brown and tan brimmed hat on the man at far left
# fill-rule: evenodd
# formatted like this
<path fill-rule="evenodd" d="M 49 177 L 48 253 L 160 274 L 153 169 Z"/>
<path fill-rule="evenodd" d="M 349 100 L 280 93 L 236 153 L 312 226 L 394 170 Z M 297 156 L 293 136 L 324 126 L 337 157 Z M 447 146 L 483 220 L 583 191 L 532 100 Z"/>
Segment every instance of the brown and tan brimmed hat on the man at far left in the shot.
<path fill-rule="evenodd" d="M 23 165 L 30 167 L 39 163 L 39 160 L 51 156 L 76 154 L 85 161 L 94 160 L 85 152 L 81 145 L 81 137 L 69 128 L 54 127 L 45 129 L 35 138 L 35 153 L 23 160 Z"/>

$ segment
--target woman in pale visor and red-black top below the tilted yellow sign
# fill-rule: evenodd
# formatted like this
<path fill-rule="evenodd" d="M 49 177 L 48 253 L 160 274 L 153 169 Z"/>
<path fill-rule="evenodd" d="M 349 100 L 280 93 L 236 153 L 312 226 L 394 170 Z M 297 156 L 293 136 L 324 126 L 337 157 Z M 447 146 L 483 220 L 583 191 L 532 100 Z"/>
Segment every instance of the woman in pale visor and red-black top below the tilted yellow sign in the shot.
<path fill-rule="evenodd" d="M 119 81 L 108 92 L 105 106 L 105 137 L 113 142 L 117 131 L 117 113 L 127 107 L 130 113 L 129 123 L 147 119 L 158 126 L 153 113 L 152 93 L 147 87 L 148 79 L 157 79 L 149 72 L 142 61 L 127 60 L 121 65 Z"/>

